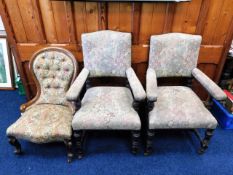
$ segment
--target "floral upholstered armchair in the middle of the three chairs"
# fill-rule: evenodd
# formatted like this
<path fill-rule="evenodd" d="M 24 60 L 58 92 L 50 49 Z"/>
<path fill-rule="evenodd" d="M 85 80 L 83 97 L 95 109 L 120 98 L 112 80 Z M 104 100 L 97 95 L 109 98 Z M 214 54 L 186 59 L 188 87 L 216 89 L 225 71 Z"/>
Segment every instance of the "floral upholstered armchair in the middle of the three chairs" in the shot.
<path fill-rule="evenodd" d="M 82 47 L 84 68 L 66 95 L 69 101 L 79 101 L 86 85 L 82 101 L 76 102 L 80 109 L 72 121 L 78 157 L 83 156 L 82 142 L 86 130 L 132 131 L 132 152 L 136 153 L 141 129 L 136 110 L 146 93 L 131 68 L 131 34 L 108 30 L 83 34 Z M 94 79 L 103 81 L 107 77 L 110 83 L 116 79 L 123 80 L 123 83 L 92 86 Z"/>

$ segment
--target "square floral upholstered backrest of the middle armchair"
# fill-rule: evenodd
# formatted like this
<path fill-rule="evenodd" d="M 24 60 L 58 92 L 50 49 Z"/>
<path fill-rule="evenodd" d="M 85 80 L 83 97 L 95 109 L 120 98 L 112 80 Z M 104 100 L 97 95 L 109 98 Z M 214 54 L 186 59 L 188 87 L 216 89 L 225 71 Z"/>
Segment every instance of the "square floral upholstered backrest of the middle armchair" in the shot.
<path fill-rule="evenodd" d="M 131 34 L 110 30 L 82 34 L 84 67 L 90 77 L 126 77 L 131 66 Z"/>

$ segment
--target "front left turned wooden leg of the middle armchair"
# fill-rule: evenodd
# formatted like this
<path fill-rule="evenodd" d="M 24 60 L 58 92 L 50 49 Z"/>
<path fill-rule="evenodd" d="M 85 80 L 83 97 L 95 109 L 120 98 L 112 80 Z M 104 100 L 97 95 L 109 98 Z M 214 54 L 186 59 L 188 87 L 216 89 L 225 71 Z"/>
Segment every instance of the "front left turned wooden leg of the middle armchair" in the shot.
<path fill-rule="evenodd" d="M 83 131 L 74 131 L 74 138 L 75 138 L 75 143 L 76 143 L 77 152 L 78 152 L 78 159 L 82 159 L 84 156 L 83 137 L 84 137 Z"/>

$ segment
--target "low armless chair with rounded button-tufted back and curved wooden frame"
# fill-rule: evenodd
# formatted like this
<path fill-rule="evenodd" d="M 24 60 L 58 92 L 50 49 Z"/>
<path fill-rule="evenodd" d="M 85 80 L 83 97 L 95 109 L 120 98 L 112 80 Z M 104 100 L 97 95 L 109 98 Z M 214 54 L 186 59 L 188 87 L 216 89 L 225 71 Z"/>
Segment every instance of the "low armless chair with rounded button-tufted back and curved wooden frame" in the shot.
<path fill-rule="evenodd" d="M 37 86 L 37 95 L 21 106 L 21 117 L 6 131 L 15 153 L 21 153 L 17 139 L 34 143 L 62 141 L 72 153 L 71 122 L 75 111 L 65 94 L 77 75 L 77 62 L 67 50 L 49 47 L 35 53 L 30 70 Z"/>

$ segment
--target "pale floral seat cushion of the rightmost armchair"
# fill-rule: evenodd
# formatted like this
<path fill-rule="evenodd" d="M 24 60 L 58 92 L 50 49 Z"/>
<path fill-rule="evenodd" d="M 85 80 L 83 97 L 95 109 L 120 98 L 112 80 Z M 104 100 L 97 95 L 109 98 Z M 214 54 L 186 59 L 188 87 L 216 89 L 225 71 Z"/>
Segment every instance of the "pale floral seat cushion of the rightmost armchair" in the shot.
<path fill-rule="evenodd" d="M 150 129 L 215 129 L 216 126 L 216 119 L 190 88 L 183 86 L 158 88 L 158 100 L 149 113 Z"/>

